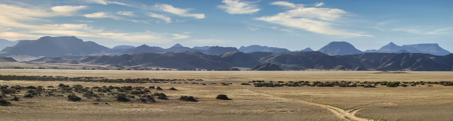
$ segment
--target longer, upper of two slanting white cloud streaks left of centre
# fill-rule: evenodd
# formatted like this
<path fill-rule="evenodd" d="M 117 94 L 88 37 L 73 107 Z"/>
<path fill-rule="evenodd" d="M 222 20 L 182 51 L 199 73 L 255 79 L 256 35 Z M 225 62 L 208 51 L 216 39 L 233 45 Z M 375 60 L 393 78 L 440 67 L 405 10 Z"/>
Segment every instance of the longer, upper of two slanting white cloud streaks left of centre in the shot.
<path fill-rule="evenodd" d="M 168 13 L 173 13 L 181 17 L 193 17 L 196 19 L 205 18 L 203 13 L 189 13 L 191 9 L 181 9 L 173 7 L 170 4 L 155 4 L 154 6 L 149 7 L 149 9 L 156 10 L 156 11 L 163 11 Z"/>

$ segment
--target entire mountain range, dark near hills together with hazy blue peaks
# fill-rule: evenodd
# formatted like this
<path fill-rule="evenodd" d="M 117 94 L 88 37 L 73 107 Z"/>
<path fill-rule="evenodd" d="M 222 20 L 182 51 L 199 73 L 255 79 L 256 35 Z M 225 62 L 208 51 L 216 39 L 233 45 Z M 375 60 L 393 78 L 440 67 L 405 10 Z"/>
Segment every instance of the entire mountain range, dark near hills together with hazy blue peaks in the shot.
<path fill-rule="evenodd" d="M 74 36 L 44 36 L 38 40 L 19 40 L 0 51 L 2 62 L 14 62 L 5 56 L 46 56 L 32 60 L 38 63 L 113 65 L 112 67 L 162 67 L 225 69 L 253 68 L 271 63 L 284 70 L 408 70 L 451 71 L 453 54 L 438 44 L 398 46 L 393 43 L 378 50 L 362 52 L 347 42 L 331 42 L 318 51 L 310 48 L 288 49 L 260 45 L 235 47 L 184 47 L 176 44 L 168 49 L 141 45 L 120 45 L 112 49 Z M 12 60 L 11 60 L 12 59 Z M 261 65 L 264 68 L 269 64 Z M 258 67 L 260 68 L 260 67 Z"/>

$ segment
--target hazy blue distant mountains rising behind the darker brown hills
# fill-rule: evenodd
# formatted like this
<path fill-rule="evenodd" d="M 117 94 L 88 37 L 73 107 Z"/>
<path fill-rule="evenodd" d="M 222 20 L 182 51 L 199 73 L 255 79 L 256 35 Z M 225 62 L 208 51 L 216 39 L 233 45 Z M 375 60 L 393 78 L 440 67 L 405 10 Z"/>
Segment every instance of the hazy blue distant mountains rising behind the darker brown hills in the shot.
<path fill-rule="evenodd" d="M 183 51 L 198 51 L 208 55 L 219 55 L 226 52 L 241 51 L 244 53 L 252 52 L 271 52 L 271 53 L 291 53 L 291 52 L 307 52 L 313 51 L 311 48 L 306 48 L 297 51 L 290 51 L 284 48 L 268 47 L 260 45 L 241 46 L 239 49 L 235 47 L 220 47 L 220 46 L 195 46 L 193 48 L 184 47 L 176 44 L 168 49 L 157 46 L 141 45 L 138 47 L 130 45 L 119 45 L 113 48 L 107 48 L 98 45 L 92 41 L 83 41 L 75 36 L 43 36 L 38 40 L 17 40 L 14 46 L 6 47 L 0 51 L 0 56 L 10 55 L 30 55 L 30 56 L 46 56 L 55 57 L 58 55 L 121 55 L 121 54 L 138 54 L 138 53 L 158 53 L 158 52 L 183 52 Z M 12 41 L 0 40 L 0 44 L 14 44 Z M 356 49 L 353 45 L 347 42 L 331 42 L 323 48 L 317 50 L 328 55 L 348 55 L 348 54 L 363 54 L 363 53 L 424 53 L 434 55 L 451 54 L 445 49 L 442 49 L 438 44 L 416 44 L 398 46 L 394 43 L 383 46 L 381 49 L 371 49 L 362 52 Z"/>

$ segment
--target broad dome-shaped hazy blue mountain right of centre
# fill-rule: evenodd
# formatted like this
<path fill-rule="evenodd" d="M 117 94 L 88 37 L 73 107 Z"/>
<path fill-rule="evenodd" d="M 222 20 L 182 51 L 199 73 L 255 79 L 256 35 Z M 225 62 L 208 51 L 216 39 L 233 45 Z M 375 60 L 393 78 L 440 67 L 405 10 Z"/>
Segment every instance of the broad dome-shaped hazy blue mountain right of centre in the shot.
<path fill-rule="evenodd" d="M 318 50 L 328 55 L 348 55 L 348 54 L 363 54 L 362 51 L 356 49 L 350 43 L 341 41 L 330 42 L 328 45 Z"/>

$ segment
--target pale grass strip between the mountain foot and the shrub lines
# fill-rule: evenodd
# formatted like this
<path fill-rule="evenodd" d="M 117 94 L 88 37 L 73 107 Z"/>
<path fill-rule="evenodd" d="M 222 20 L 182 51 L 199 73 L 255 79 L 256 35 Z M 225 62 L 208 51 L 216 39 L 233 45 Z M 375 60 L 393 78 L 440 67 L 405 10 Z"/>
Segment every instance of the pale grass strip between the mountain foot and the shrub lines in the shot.
<path fill-rule="evenodd" d="M 376 71 L 126 71 L 0 69 L 0 75 L 102 76 L 109 79 L 161 78 L 207 81 L 452 81 L 453 72 L 374 74 Z"/>

